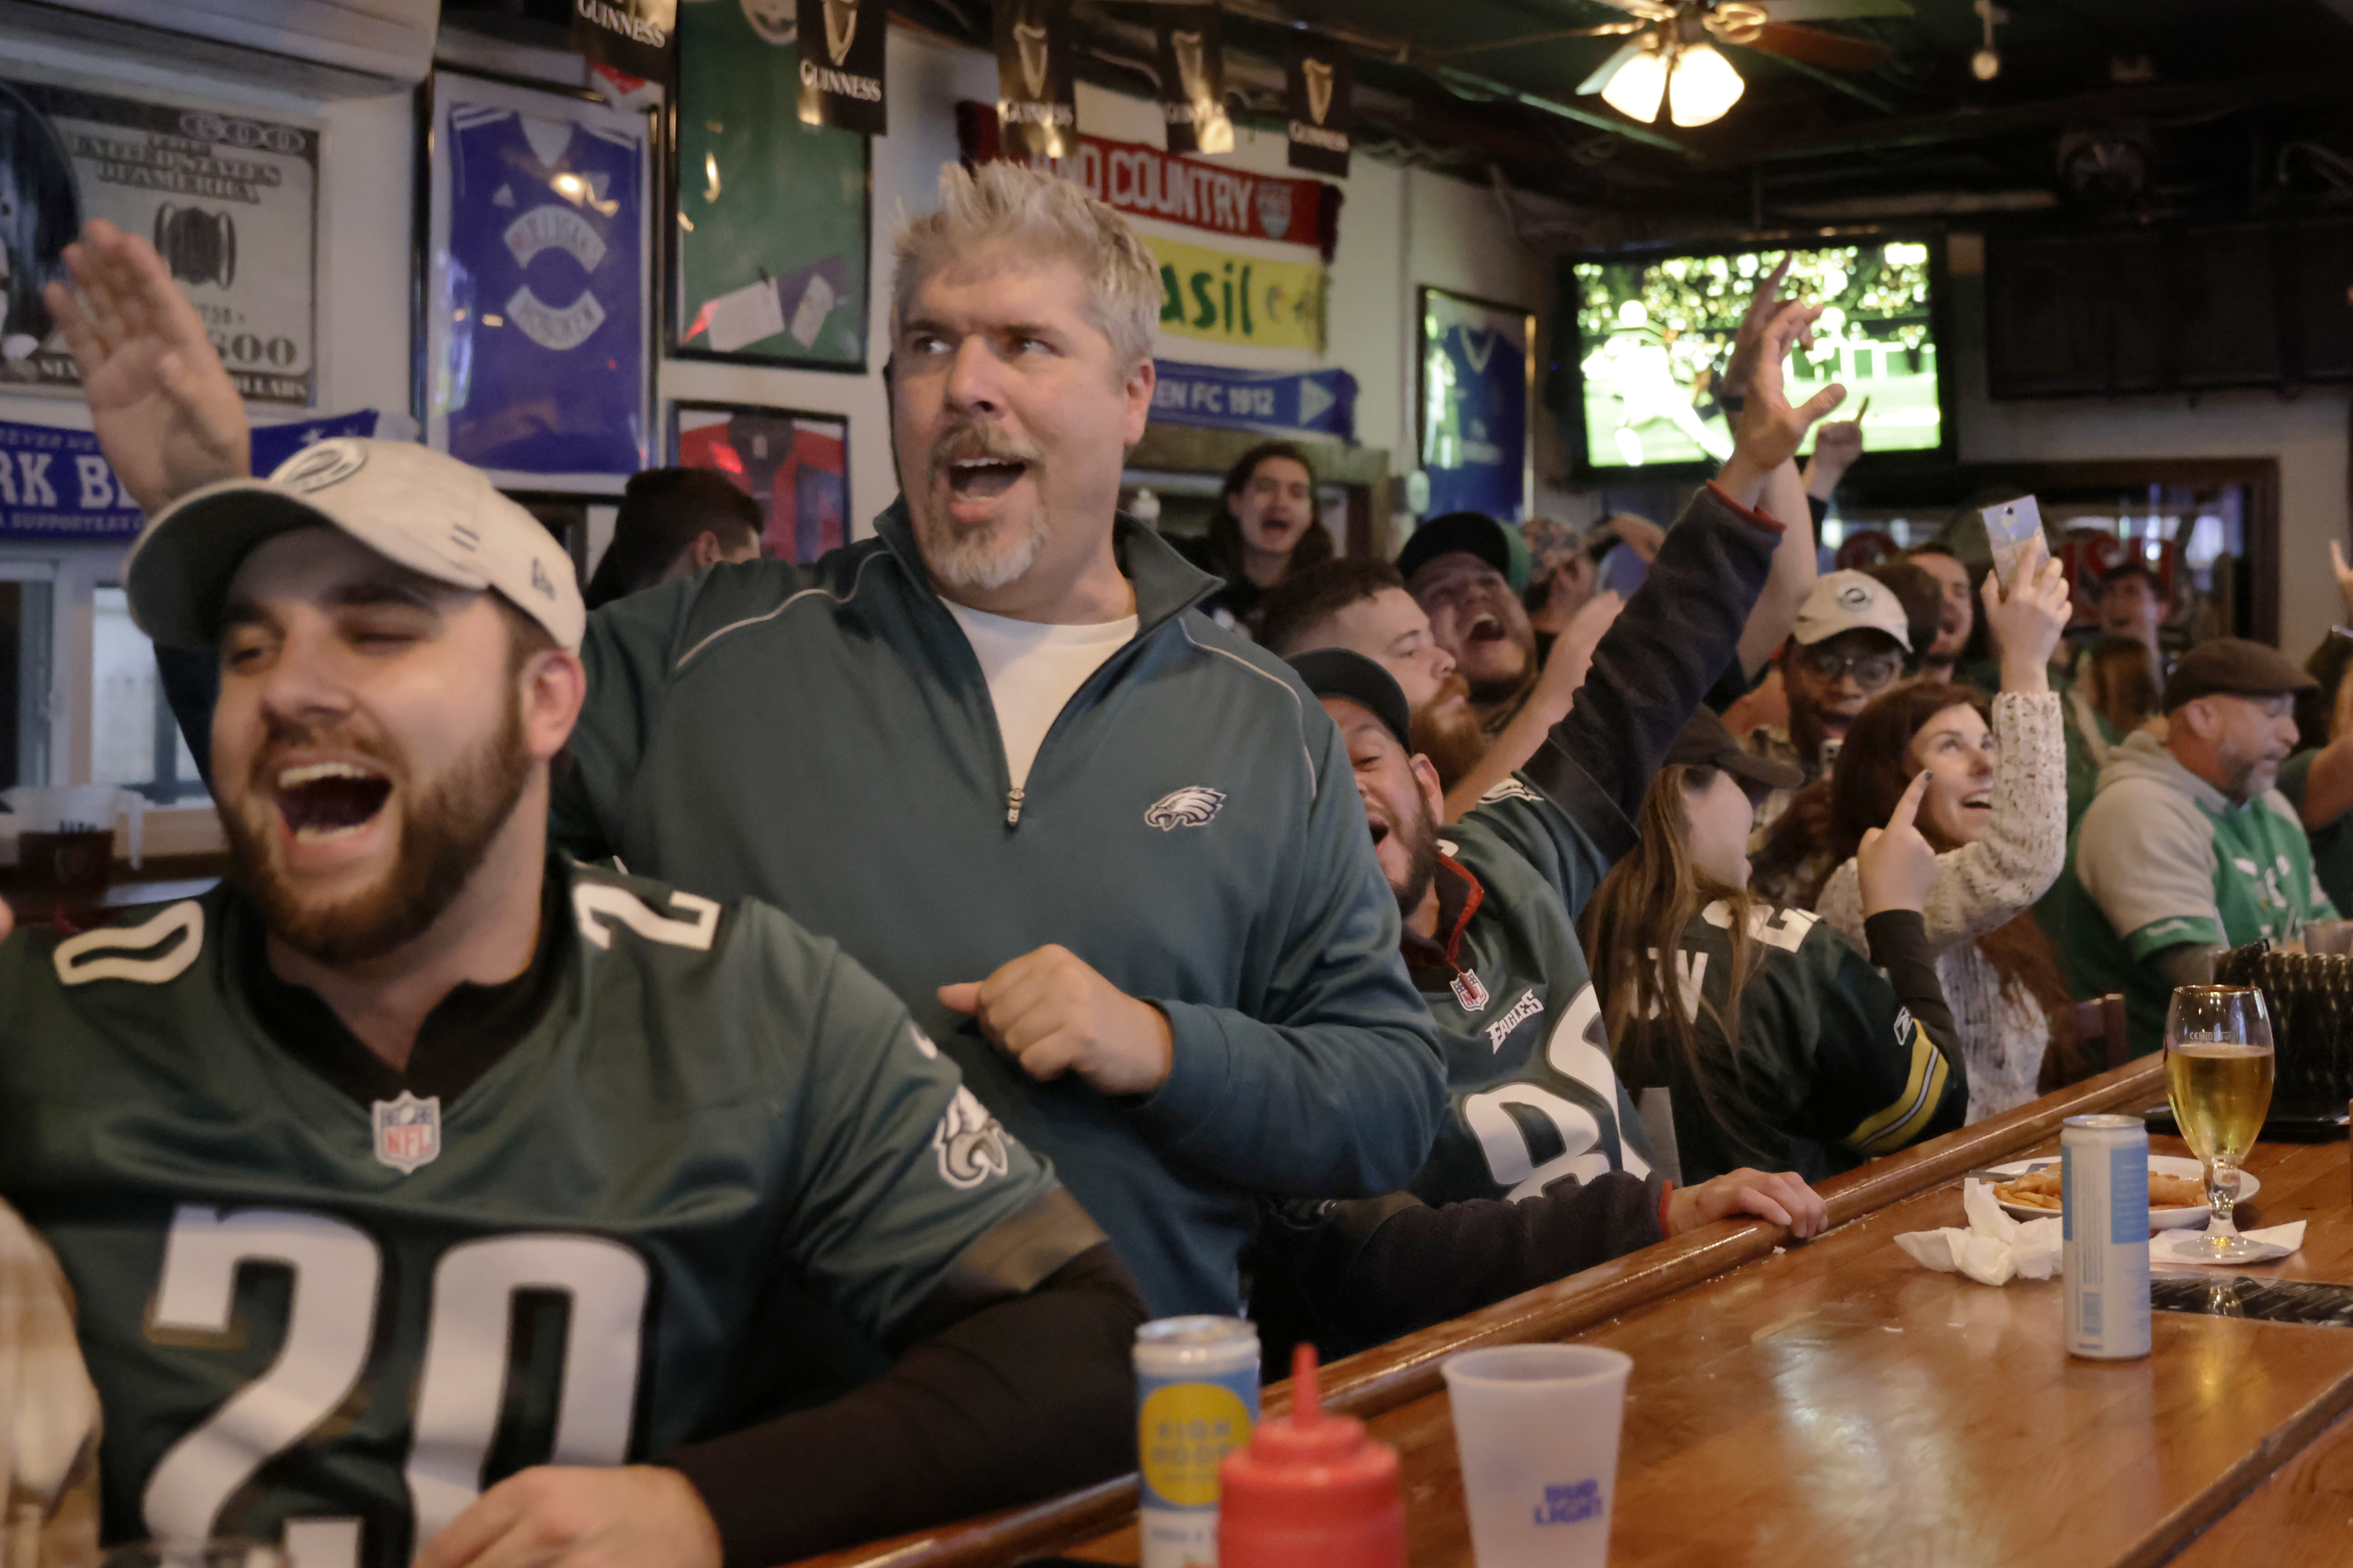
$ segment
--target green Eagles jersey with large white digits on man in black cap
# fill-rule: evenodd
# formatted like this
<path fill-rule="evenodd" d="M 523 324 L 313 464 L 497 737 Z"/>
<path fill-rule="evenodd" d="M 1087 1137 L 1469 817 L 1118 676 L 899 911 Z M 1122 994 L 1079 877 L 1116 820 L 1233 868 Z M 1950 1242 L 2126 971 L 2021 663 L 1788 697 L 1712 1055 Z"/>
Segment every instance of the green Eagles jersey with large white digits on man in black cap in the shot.
<path fill-rule="evenodd" d="M 1454 966 L 1412 969 L 1447 1056 L 1447 1117 L 1412 1180 L 1424 1204 L 1525 1199 L 1609 1171 L 1649 1175 L 1609 1067 L 1577 914 L 1609 870 L 1572 816 L 1508 778 L 1440 835 L 1475 877 Z"/>

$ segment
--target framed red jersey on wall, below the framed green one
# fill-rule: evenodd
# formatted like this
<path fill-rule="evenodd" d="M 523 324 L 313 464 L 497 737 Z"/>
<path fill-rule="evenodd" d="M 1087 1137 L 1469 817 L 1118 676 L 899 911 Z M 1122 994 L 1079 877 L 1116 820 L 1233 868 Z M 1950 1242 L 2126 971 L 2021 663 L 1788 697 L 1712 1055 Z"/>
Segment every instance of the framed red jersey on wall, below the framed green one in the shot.
<path fill-rule="evenodd" d="M 849 421 L 744 402 L 671 404 L 671 461 L 715 468 L 760 503 L 760 545 L 814 562 L 849 543 Z"/>

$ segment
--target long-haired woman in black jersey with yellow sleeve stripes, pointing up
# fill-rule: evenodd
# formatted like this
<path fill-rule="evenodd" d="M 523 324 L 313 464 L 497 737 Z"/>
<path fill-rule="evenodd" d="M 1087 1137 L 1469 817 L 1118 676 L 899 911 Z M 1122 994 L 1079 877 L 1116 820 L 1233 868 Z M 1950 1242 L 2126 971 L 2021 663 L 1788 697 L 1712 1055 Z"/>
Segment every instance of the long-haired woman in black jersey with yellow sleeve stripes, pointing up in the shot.
<path fill-rule="evenodd" d="M 1737 1166 L 1819 1180 L 1967 1112 L 1920 926 L 1937 877 L 1911 823 L 1920 792 L 1864 846 L 1866 959 L 1748 889 L 1755 802 L 1795 773 L 1701 708 L 1642 799 L 1640 842 L 1581 922 L 1619 1081 L 1668 1091 L 1685 1180 Z"/>

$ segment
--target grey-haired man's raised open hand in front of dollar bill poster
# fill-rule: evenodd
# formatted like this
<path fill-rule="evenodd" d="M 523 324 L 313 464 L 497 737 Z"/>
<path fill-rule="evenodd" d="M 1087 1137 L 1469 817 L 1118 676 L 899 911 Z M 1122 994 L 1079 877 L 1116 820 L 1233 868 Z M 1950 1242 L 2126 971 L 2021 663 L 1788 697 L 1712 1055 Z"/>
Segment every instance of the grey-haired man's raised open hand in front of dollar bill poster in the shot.
<path fill-rule="evenodd" d="M 99 447 L 148 515 L 174 496 L 252 468 L 245 402 L 195 306 L 155 247 L 106 219 L 66 247 L 73 289 L 42 299 L 82 371 Z"/>

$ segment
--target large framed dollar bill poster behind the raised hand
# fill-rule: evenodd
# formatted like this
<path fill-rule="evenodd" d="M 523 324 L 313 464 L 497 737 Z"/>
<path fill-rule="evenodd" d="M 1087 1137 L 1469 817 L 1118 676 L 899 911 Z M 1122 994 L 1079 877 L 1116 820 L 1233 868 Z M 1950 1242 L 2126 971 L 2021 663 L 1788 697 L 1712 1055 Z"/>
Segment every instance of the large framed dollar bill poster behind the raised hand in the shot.
<path fill-rule="evenodd" d="M 247 402 L 313 402 L 318 125 L 0 78 L 0 388 L 80 397 L 40 284 L 89 219 L 155 242 Z"/>

